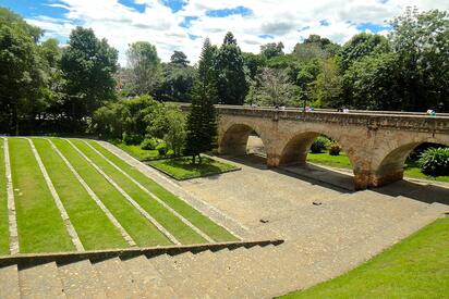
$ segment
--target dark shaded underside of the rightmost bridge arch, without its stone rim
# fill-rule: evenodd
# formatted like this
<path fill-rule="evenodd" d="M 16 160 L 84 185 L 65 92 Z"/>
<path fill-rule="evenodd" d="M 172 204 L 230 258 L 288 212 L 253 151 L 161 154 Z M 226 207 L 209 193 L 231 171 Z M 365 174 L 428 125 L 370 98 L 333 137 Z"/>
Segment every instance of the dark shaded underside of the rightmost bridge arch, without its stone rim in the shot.
<path fill-rule="evenodd" d="M 420 151 L 428 147 L 448 147 L 448 142 L 439 141 L 413 141 L 401 145 L 388 152 L 375 171 L 374 186 L 383 186 L 404 176 L 404 170 L 409 166 L 416 166 Z"/>

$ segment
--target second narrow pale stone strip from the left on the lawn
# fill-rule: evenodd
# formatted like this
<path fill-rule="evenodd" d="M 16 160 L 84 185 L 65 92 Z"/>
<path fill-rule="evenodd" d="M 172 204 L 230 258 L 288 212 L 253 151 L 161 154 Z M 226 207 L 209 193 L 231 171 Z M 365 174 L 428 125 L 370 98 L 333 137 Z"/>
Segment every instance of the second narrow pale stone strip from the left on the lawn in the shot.
<path fill-rule="evenodd" d="M 68 233 L 69 233 L 69 235 L 72 239 L 73 245 L 75 246 L 77 251 L 84 251 L 84 247 L 83 247 L 83 245 L 80 240 L 80 237 L 76 234 L 76 231 L 72 225 L 72 222 L 70 221 L 69 214 L 65 211 L 65 208 L 61 202 L 61 198 L 59 197 L 58 191 L 54 189 L 54 186 L 53 186 L 53 183 L 51 182 L 51 178 L 48 176 L 48 172 L 47 172 L 47 170 L 46 170 L 46 167 L 43 163 L 43 160 L 40 159 L 39 153 L 36 150 L 36 147 L 34 146 L 32 139 L 26 138 L 26 140 L 28 141 L 28 144 L 32 148 L 34 158 L 36 159 L 37 164 L 39 165 L 40 172 L 43 173 L 43 176 L 44 176 L 45 182 L 47 183 L 48 189 L 50 190 L 51 196 L 53 197 L 54 203 L 56 203 L 56 205 L 59 210 L 59 213 L 62 216 L 62 221 L 64 222 L 65 229 L 68 231 Z"/>

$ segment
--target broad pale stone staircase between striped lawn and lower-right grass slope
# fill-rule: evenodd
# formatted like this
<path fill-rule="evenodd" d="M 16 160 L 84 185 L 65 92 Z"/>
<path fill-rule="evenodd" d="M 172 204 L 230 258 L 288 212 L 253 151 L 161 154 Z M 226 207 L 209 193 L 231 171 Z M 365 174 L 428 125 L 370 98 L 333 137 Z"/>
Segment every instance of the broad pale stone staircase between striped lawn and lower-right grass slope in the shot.
<path fill-rule="evenodd" d="M 3 257 L 0 298 L 271 298 L 338 276 L 449 212 L 446 204 L 402 200 L 367 190 L 342 195 L 339 204 L 307 205 L 298 212 L 304 226 L 281 236 L 284 242 Z M 313 209 L 323 213 L 320 226 L 308 222 Z M 345 217 L 349 209 L 364 216 Z M 274 219 L 258 236 L 286 225 L 294 226 Z"/>

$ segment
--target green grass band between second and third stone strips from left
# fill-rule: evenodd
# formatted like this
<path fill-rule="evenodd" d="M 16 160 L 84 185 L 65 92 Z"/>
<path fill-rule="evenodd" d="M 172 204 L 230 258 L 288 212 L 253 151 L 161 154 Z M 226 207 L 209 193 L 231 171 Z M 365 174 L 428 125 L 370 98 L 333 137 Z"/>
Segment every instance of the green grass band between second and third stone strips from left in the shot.
<path fill-rule="evenodd" d="M 48 140 L 33 142 L 86 250 L 125 248 L 126 241 L 90 198 Z M 61 175 L 63 174 L 63 175 Z"/>

